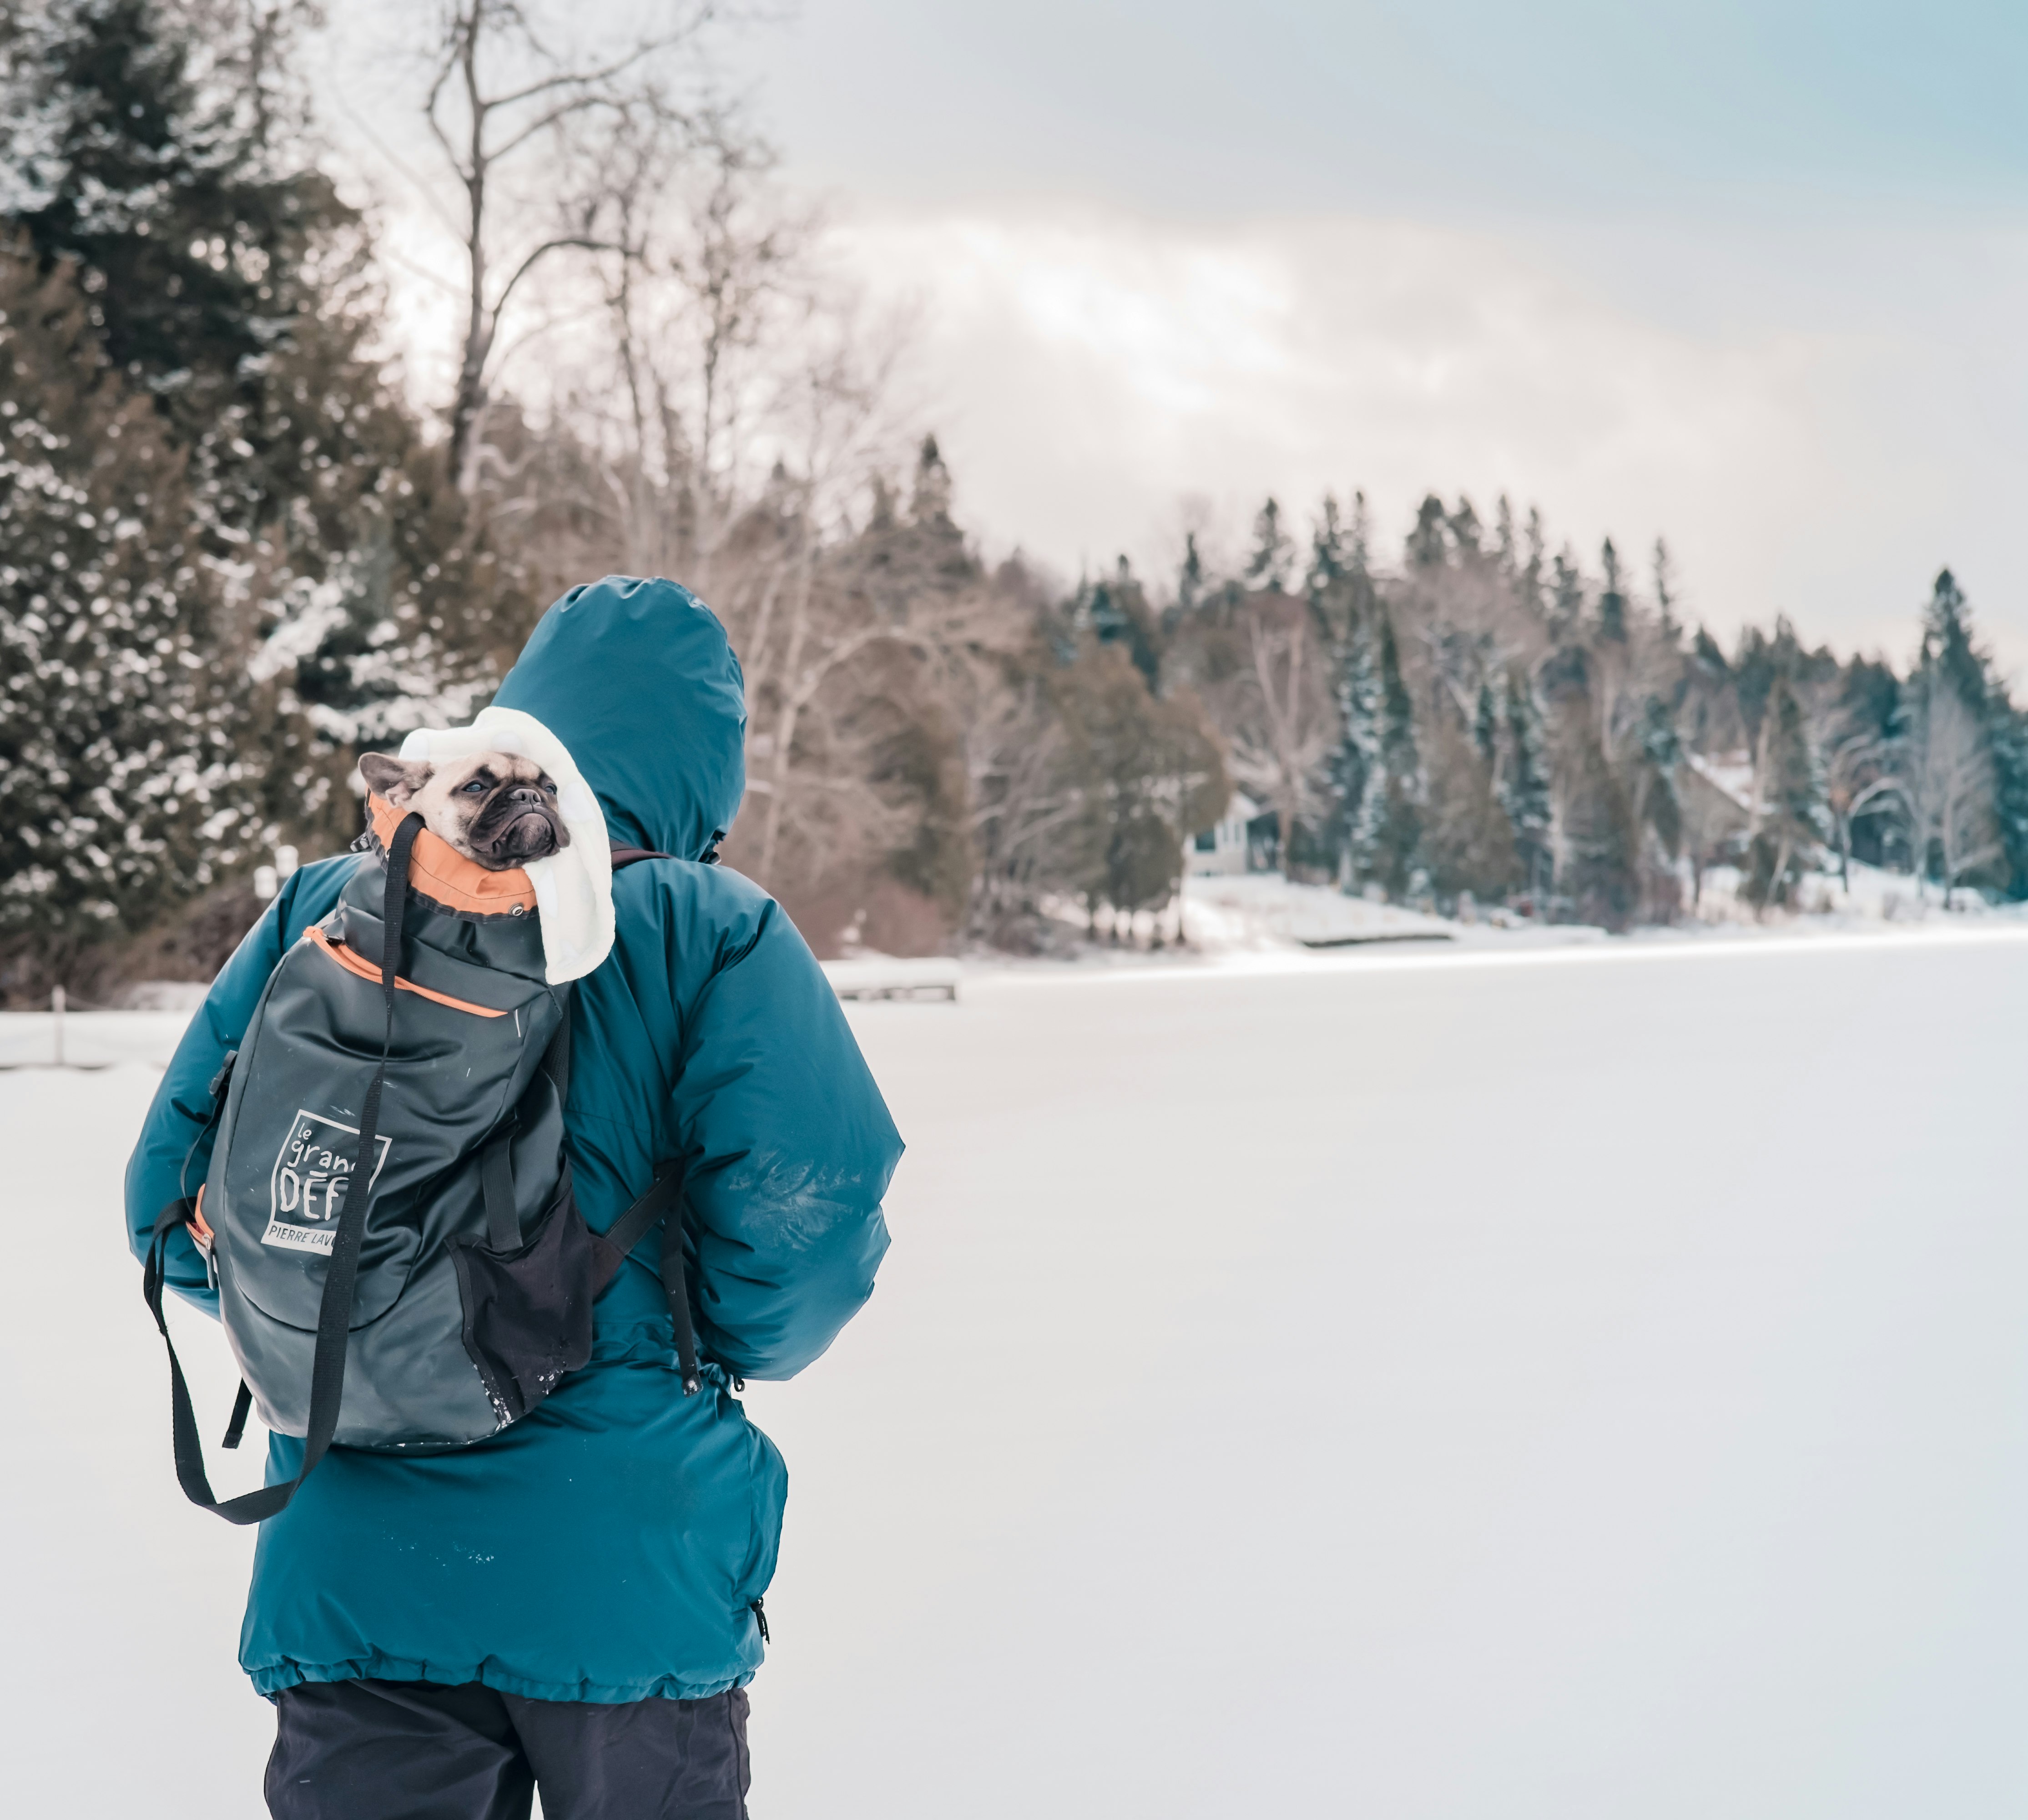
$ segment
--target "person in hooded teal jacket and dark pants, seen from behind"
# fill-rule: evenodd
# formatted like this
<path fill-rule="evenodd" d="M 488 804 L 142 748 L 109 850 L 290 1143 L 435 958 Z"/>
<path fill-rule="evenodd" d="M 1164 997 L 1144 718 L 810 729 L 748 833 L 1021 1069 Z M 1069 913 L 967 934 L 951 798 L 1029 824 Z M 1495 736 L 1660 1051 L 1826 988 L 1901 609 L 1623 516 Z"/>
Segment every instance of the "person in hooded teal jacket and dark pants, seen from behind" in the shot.
<path fill-rule="evenodd" d="M 744 789 L 724 627 L 667 580 L 572 588 L 495 700 L 550 726 L 614 844 L 612 954 L 576 986 L 566 1132 L 606 1230 L 681 1157 L 704 1394 L 681 1396 L 657 1240 L 598 1303 L 590 1363 L 483 1445 L 333 1449 L 262 1524 L 239 1662 L 280 1706 L 288 1816 L 744 1812 L 787 1473 L 742 1378 L 791 1378 L 872 1292 L 900 1138 L 836 994 L 779 905 L 712 862 Z M 357 858 L 302 866 L 193 1019 L 128 1167 L 128 1240 L 209 1161 L 207 1086 L 268 974 Z M 217 1313 L 178 1228 L 170 1286 Z M 274 1434 L 268 1483 L 302 1443 Z M 193 1514 L 193 1520 L 195 1514 Z"/>

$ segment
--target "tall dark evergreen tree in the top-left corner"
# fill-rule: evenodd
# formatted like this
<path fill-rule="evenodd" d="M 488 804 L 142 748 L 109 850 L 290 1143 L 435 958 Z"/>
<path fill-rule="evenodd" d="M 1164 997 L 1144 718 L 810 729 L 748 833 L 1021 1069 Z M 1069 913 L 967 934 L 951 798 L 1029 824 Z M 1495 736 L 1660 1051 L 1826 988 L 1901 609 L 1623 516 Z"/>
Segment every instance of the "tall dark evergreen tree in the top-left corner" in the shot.
<path fill-rule="evenodd" d="M 304 154 L 296 18 L 49 0 L 10 12 L 0 47 L 0 207 L 45 272 L 77 266 L 112 365 L 189 450 L 207 534 L 308 491 L 314 432 L 276 410 L 278 351 L 314 325 L 353 215 Z"/>

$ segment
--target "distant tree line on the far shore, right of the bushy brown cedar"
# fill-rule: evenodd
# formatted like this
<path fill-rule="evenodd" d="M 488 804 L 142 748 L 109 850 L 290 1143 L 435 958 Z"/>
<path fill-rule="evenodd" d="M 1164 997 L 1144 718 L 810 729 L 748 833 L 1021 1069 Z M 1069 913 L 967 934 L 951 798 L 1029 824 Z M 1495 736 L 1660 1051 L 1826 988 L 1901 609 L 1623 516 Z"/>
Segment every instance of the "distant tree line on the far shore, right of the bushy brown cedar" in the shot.
<path fill-rule="evenodd" d="M 1186 554 L 1162 661 L 1292 877 L 1608 929 L 1693 911 L 1720 864 L 1762 909 L 1856 860 L 2028 897 L 2028 718 L 1949 570 L 1904 672 L 1785 619 L 1728 651 L 1677 605 L 1663 542 L 1645 578 L 1610 538 L 1586 572 L 1505 499 L 1424 499 L 1385 568 L 1361 497 L 1306 548 L 1270 499 L 1237 576 Z"/>

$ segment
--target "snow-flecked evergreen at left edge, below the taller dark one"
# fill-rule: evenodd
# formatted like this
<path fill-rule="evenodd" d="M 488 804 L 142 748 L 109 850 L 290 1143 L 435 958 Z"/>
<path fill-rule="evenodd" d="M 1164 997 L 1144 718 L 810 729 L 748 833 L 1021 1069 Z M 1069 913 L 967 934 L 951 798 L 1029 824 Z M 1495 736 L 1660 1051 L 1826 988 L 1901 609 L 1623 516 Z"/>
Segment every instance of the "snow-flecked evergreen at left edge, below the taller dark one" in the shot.
<path fill-rule="evenodd" d="M 0 254 L 0 937 L 63 978 L 268 836 L 183 459 L 65 270 Z"/>

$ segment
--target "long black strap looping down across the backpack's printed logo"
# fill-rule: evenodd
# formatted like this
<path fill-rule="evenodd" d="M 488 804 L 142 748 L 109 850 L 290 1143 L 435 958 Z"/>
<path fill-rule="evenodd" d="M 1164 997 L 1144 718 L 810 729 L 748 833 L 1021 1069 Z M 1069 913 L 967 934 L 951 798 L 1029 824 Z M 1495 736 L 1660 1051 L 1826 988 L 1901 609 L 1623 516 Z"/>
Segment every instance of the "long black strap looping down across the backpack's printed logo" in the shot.
<path fill-rule="evenodd" d="M 148 1262 L 142 1268 L 142 1294 L 154 1325 L 162 1331 L 168 1347 L 168 1394 L 170 1416 L 176 1443 L 176 1481 L 185 1497 L 205 1510 L 217 1512 L 229 1524 L 258 1524 L 286 1510 L 296 1495 L 296 1487 L 316 1471 L 316 1463 L 331 1447 L 331 1437 L 339 1432 L 339 1404 L 345 1398 L 345 1345 L 353 1323 L 353 1286 L 359 1280 L 359 1242 L 365 1236 L 367 1203 L 373 1199 L 373 1144 L 379 1136 L 381 1088 L 387 1083 L 387 1059 L 393 1055 L 393 982 L 402 966 L 402 915 L 408 907 L 408 854 L 422 832 L 422 816 L 404 816 L 393 840 L 387 844 L 387 897 L 381 907 L 381 1000 L 387 1023 L 381 1033 L 381 1059 L 373 1069 L 365 1106 L 359 1110 L 359 1152 L 353 1157 L 353 1173 L 345 1183 L 345 1203 L 339 1209 L 339 1226 L 331 1236 L 331 1268 L 324 1274 L 324 1294 L 316 1307 L 316 1349 L 310 1355 L 310 1422 L 302 1441 L 302 1471 L 286 1485 L 264 1485 L 239 1497 L 217 1499 L 211 1495 L 211 1479 L 205 1477 L 205 1445 L 197 1434 L 197 1414 L 191 1408 L 191 1390 L 183 1382 L 183 1363 L 176 1359 L 176 1343 L 168 1337 L 168 1321 L 162 1319 L 164 1264 L 168 1236 L 189 1223 L 195 1211 L 189 1201 L 170 1201 L 154 1221 L 154 1238 L 148 1246 Z M 233 1408 L 239 1422 L 237 1404 Z"/>

